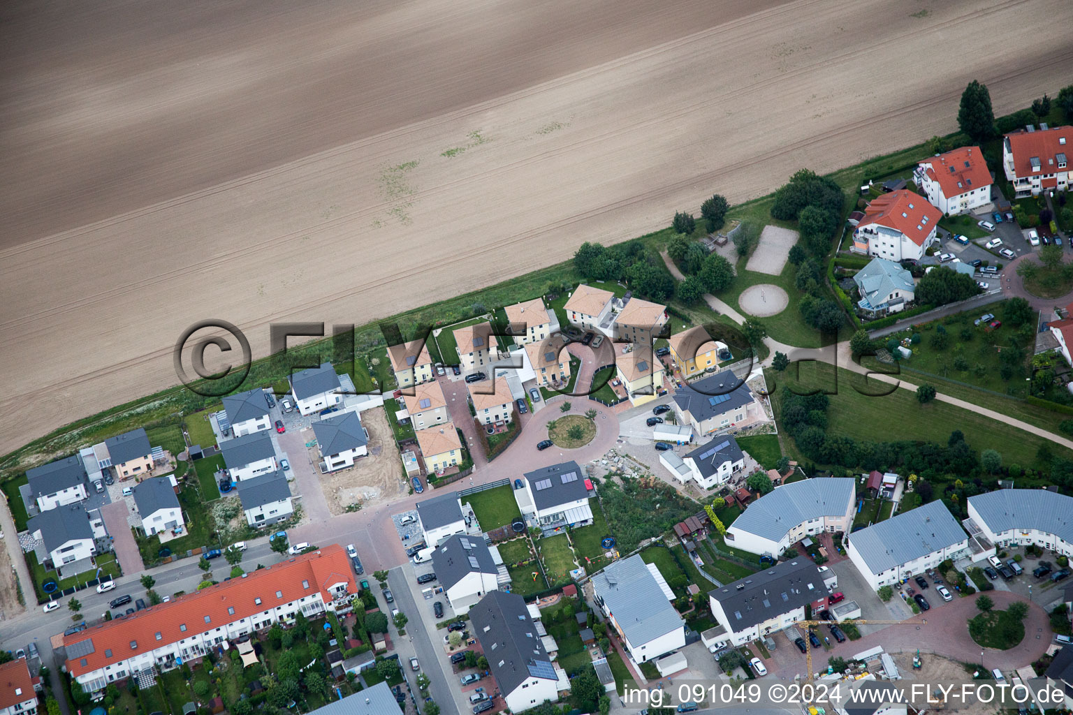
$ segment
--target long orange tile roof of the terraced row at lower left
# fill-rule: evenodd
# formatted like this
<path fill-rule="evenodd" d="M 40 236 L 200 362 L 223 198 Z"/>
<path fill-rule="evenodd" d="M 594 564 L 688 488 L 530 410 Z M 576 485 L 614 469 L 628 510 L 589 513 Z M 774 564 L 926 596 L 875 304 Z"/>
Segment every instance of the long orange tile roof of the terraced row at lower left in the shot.
<path fill-rule="evenodd" d="M 308 589 L 303 581 L 309 583 Z M 93 651 L 68 658 L 68 671 L 75 676 L 83 675 L 318 592 L 325 602 L 330 602 L 332 594 L 327 589 L 342 582 L 347 583 L 347 593 L 357 592 L 347 552 L 338 543 L 332 543 L 281 564 L 250 571 L 241 578 L 179 596 L 167 604 L 150 606 L 126 619 L 106 621 L 64 636 L 63 646 L 69 653 L 72 645 L 85 641 L 92 641 Z M 282 594 L 279 598 L 277 591 Z M 259 597 L 260 605 L 254 602 Z M 229 612 L 230 608 L 235 610 L 234 614 Z M 205 623 L 206 615 L 209 623 Z M 180 630 L 181 625 L 187 626 L 186 631 Z M 160 640 L 157 640 L 158 632 Z M 136 647 L 131 647 L 132 642 Z M 82 665 L 83 658 L 86 665 Z"/>

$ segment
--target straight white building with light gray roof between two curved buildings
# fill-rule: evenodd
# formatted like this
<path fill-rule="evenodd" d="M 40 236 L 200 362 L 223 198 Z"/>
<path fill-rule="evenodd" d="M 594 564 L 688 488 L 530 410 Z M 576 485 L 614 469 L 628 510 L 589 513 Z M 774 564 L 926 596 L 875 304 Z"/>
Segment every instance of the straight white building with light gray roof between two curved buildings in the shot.
<path fill-rule="evenodd" d="M 969 551 L 969 536 L 939 501 L 847 534 L 843 543 L 877 591 Z"/>

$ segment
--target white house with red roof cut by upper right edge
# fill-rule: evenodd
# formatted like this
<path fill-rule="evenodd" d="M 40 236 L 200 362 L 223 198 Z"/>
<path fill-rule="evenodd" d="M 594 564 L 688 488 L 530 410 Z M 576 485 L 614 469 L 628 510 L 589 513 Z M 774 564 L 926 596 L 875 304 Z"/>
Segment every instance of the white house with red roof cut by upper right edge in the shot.
<path fill-rule="evenodd" d="M 1013 184 L 1015 198 L 1035 196 L 1042 191 L 1065 191 L 1070 185 L 1069 146 L 1073 126 L 1037 131 L 1028 126 L 1002 139 L 1002 169 Z"/>

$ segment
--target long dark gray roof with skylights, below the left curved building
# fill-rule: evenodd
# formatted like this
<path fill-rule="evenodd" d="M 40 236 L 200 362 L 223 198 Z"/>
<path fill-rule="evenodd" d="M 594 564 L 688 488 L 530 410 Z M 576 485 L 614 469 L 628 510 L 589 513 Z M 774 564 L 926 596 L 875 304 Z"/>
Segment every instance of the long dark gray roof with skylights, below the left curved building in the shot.
<path fill-rule="evenodd" d="M 736 632 L 827 595 L 820 567 L 807 557 L 784 561 L 708 592 L 723 607 L 731 629 Z"/>

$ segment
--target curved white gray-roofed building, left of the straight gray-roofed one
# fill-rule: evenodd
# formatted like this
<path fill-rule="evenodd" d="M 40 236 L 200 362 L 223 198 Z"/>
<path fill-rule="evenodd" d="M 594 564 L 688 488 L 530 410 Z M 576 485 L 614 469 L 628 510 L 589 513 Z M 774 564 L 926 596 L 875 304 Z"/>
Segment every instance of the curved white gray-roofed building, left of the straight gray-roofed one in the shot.
<path fill-rule="evenodd" d="M 736 549 L 779 556 L 806 536 L 847 532 L 853 523 L 856 480 L 803 479 L 776 487 L 734 520 L 724 538 Z"/>

